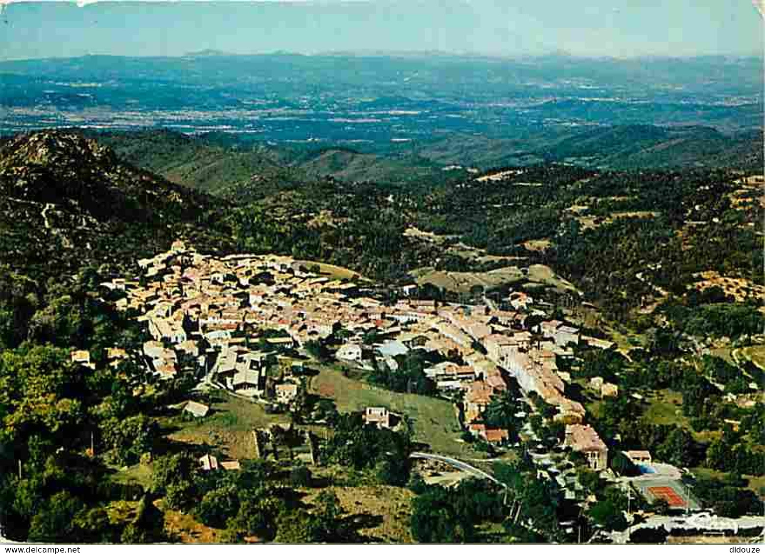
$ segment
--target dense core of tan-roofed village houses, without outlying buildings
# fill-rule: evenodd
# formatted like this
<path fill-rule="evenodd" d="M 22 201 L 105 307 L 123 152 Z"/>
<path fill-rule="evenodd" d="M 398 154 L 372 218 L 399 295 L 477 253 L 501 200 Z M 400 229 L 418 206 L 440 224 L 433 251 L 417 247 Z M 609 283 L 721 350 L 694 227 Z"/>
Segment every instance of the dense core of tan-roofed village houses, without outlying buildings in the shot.
<path fill-rule="evenodd" d="M 487 426 L 483 412 L 514 387 L 529 411 L 552 410 L 552 420 L 565 425 L 565 445 L 582 452 L 591 469 L 606 468 L 607 447 L 583 424 L 581 403 L 566 396 L 571 377 L 558 370 L 556 360 L 571 358 L 571 345 L 611 348 L 613 343 L 583 336 L 562 321 L 539 321 L 544 312 L 534 309 L 526 293 L 508 299 L 516 311 L 491 309 L 490 303 L 415 300 L 407 296 L 409 289 L 386 303 L 369 283 L 323 277 L 288 257 L 216 258 L 181 241 L 139 266 L 144 272 L 139 280 L 103 285 L 124 291 L 117 308 L 135 310 L 145 322 L 151 340 L 143 345 L 142 358 L 158 378 L 173 379 L 190 366 L 200 387 L 289 407 L 302 386 L 304 361 L 262 352 L 264 340 L 304 356 L 312 344 L 333 339 L 331 357 L 369 371 L 380 364 L 395 369 L 397 355 L 422 349 L 443 360 L 425 368 L 425 375 L 439 395 L 454 401 L 472 436 L 497 447 L 508 444 L 508 429 Z M 531 328 L 529 314 L 538 321 Z M 594 381 L 602 396 L 618 394 L 616 385 Z M 379 419 L 376 410 L 369 407 L 370 419 Z"/>

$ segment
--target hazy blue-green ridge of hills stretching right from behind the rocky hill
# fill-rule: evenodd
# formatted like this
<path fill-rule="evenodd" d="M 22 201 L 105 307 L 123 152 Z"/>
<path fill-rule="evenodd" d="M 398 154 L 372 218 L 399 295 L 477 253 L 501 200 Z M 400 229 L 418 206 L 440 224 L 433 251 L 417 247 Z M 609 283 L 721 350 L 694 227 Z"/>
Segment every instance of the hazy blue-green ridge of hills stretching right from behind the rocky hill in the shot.
<path fill-rule="evenodd" d="M 406 185 L 467 177 L 467 167 L 568 163 L 614 170 L 731 167 L 761 170 L 762 131 L 724 134 L 703 126 L 623 125 L 530 134 L 514 140 L 454 134 L 434 141 L 362 151 L 342 145 L 284 147 L 214 134 L 172 131 L 93 134 L 117 155 L 174 183 L 236 196 L 257 186 L 309 186 L 332 177 L 347 182 Z M 450 167 L 450 171 L 444 171 Z"/>

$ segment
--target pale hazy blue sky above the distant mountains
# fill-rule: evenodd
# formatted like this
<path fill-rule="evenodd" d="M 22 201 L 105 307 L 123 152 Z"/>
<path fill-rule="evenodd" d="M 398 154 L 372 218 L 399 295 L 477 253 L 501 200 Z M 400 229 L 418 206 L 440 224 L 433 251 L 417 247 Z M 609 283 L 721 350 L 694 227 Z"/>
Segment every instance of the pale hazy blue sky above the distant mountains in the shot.
<path fill-rule="evenodd" d="M 9 5 L 0 57 L 289 50 L 760 55 L 752 0 L 321 0 Z"/>

